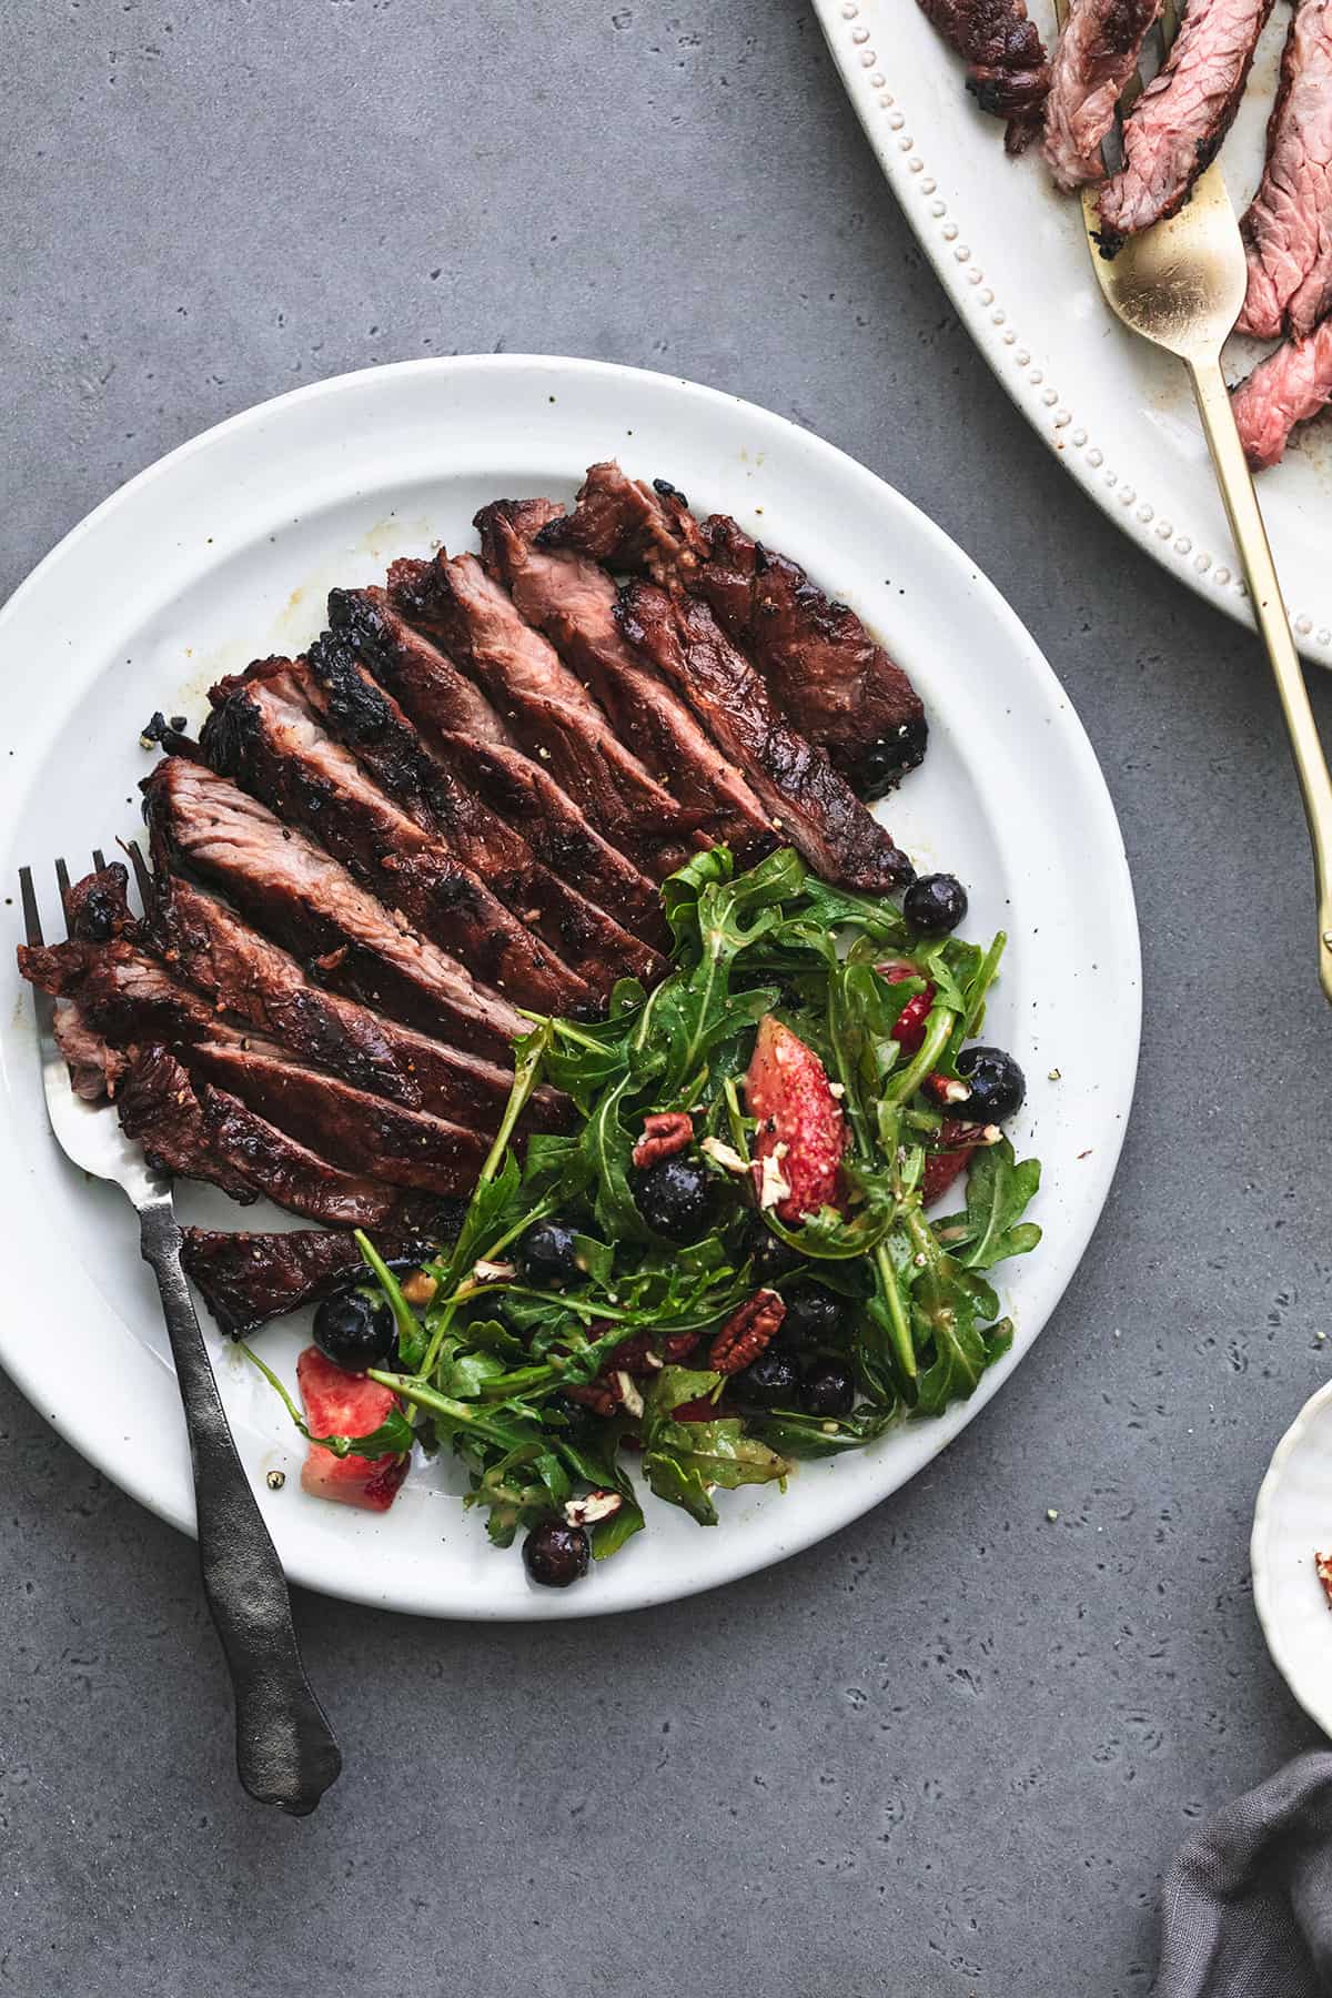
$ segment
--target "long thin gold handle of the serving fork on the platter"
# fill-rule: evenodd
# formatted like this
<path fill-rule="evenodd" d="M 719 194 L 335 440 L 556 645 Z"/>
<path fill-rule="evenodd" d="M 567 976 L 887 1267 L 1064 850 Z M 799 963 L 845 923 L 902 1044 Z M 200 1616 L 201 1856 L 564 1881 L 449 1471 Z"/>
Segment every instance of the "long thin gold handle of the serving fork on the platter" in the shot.
<path fill-rule="evenodd" d="M 1220 496 L 1226 501 L 1226 515 L 1234 545 L 1244 563 L 1248 593 L 1262 643 L 1272 661 L 1276 691 L 1286 715 L 1290 753 L 1294 757 L 1300 793 L 1304 797 L 1304 817 L 1314 849 L 1314 877 L 1318 883 L 1318 979 L 1324 999 L 1332 1001 L 1332 777 L 1318 739 L 1314 709 L 1308 703 L 1304 667 L 1290 637 L 1290 619 L 1276 579 L 1276 563 L 1268 543 L 1268 529 L 1262 523 L 1258 494 L 1244 460 L 1244 446 L 1234 424 L 1230 392 L 1220 372 L 1220 360 L 1198 358 L 1188 362 L 1198 416 L 1212 454 L 1212 468 Z"/>

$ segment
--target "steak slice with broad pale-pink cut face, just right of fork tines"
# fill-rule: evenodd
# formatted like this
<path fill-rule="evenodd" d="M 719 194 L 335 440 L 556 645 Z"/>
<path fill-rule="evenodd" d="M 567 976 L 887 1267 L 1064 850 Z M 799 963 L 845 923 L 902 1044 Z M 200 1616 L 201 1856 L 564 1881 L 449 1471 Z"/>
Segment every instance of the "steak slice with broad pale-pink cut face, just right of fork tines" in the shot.
<path fill-rule="evenodd" d="M 339 991 L 473 1053 L 507 1057 L 527 1021 L 228 777 L 166 757 L 144 779 L 158 865 L 180 861 Z"/>

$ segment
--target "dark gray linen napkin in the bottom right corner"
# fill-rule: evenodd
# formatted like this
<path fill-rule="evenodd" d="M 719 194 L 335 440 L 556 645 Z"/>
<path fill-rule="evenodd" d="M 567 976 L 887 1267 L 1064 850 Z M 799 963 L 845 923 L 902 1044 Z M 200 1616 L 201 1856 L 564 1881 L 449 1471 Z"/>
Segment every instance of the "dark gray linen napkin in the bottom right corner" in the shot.
<path fill-rule="evenodd" d="M 1160 1998 L 1332 1998 L 1332 1752 L 1302 1754 L 1184 1846 Z"/>

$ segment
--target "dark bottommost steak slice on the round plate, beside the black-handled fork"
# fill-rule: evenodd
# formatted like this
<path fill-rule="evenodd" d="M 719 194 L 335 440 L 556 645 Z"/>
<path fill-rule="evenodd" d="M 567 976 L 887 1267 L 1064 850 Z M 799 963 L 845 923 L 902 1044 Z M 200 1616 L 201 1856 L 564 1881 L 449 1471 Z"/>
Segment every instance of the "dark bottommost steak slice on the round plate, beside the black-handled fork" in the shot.
<path fill-rule="evenodd" d="M 375 1249 L 393 1271 L 427 1263 L 439 1241 L 451 1241 L 461 1203 L 439 1203 L 439 1235 L 375 1233 Z M 226 1229 L 182 1229 L 180 1261 L 228 1339 L 248 1339 L 270 1319 L 335 1297 L 357 1277 L 369 1281 L 355 1237 L 341 1229 L 292 1229 L 286 1235 L 244 1235 Z"/>

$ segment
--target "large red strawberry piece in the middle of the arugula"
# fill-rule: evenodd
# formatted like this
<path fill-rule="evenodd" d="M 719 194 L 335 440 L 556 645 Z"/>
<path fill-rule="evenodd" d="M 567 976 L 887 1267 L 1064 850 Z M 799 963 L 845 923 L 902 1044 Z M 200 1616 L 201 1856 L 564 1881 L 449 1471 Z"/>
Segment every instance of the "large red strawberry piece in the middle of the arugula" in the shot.
<path fill-rule="evenodd" d="M 759 1123 L 753 1145 L 759 1205 L 775 1205 L 787 1227 L 825 1203 L 835 1205 L 847 1119 L 813 1047 L 771 1013 L 759 1021 L 745 1103 Z M 767 1169 L 765 1159 L 771 1159 Z M 783 1183 L 787 1191 L 773 1203 L 771 1187 Z"/>

